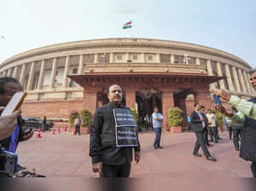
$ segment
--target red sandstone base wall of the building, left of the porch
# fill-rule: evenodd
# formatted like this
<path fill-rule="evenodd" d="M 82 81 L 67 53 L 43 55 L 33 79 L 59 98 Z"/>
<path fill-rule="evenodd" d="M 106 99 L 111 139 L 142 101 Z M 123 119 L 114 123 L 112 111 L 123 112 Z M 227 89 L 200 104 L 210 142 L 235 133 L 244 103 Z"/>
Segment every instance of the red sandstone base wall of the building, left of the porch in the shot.
<path fill-rule="evenodd" d="M 22 116 L 43 118 L 64 118 L 68 119 L 68 114 L 73 110 L 84 109 L 83 101 L 40 101 L 24 102 L 22 104 Z"/>

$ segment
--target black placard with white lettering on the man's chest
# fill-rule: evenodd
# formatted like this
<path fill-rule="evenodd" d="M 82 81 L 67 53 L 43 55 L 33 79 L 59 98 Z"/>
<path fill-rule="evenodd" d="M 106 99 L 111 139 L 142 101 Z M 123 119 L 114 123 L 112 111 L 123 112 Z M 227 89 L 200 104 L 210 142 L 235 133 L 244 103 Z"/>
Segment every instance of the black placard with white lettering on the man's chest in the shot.
<path fill-rule="evenodd" d="M 117 147 L 137 147 L 137 122 L 129 109 L 113 109 Z"/>

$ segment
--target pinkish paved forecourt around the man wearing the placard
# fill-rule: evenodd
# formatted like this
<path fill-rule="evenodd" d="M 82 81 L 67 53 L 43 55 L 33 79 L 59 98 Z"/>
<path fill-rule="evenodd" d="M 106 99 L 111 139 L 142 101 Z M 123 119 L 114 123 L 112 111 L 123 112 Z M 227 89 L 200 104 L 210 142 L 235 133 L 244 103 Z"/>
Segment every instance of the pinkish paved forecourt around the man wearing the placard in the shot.
<path fill-rule="evenodd" d="M 143 132 L 139 137 L 142 159 L 139 164 L 132 164 L 131 177 L 252 177 L 250 162 L 239 158 L 227 132 L 220 133 L 224 141 L 210 148 L 218 162 L 192 155 L 194 133 L 164 133 L 164 149 L 157 150 L 152 147 L 152 131 Z M 91 172 L 89 135 L 43 132 L 41 139 L 20 142 L 17 153 L 20 165 L 35 167 L 39 174 L 47 177 L 98 177 Z"/>

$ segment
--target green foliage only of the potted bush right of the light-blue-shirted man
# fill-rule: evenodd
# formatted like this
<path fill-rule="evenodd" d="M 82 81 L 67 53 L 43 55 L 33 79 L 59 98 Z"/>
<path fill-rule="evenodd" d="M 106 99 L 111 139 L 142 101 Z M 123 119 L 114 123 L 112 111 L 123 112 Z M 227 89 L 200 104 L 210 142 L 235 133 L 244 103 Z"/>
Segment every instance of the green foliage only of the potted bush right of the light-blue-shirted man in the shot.
<path fill-rule="evenodd" d="M 173 109 L 168 110 L 168 124 L 169 126 L 180 126 L 183 122 L 183 111 L 178 108 L 174 107 Z"/>

